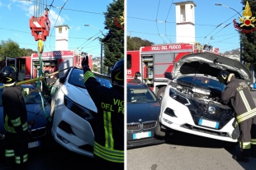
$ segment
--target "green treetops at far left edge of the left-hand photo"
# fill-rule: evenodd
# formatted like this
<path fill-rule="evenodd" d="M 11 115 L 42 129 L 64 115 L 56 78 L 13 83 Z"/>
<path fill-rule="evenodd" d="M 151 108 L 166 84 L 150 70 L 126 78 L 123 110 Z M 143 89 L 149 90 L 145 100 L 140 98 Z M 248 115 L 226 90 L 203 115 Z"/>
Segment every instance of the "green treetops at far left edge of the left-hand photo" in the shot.
<path fill-rule="evenodd" d="M 5 57 L 23 57 L 31 56 L 32 53 L 37 53 L 32 49 L 20 48 L 19 44 L 12 39 L 2 40 L 0 43 L 0 60 L 3 61 Z"/>

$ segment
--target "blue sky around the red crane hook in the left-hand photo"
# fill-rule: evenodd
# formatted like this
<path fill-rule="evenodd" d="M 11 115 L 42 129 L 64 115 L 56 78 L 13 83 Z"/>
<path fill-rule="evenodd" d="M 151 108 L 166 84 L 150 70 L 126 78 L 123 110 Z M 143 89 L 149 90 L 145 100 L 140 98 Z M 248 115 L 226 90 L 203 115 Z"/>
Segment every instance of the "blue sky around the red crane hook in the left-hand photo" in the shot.
<path fill-rule="evenodd" d="M 100 57 L 101 44 L 95 38 L 102 37 L 100 30 L 107 34 L 107 30 L 104 30 L 103 12 L 107 11 L 107 6 L 112 0 L 69 0 L 68 2 L 37 0 L 37 2 L 47 2 L 48 5 L 53 2 L 52 7 L 48 7 L 50 8 L 51 36 L 47 37 L 44 43 L 45 52 L 55 50 L 54 26 L 69 25 L 69 49 L 81 52 L 79 50 L 82 48 L 82 51 L 92 54 L 93 57 Z M 33 0 L 31 2 L 0 0 L 0 40 L 12 39 L 20 45 L 20 48 L 37 50 L 37 42 L 31 35 L 29 27 L 29 20 L 34 15 L 33 5 Z M 64 8 L 60 11 L 62 6 Z"/>

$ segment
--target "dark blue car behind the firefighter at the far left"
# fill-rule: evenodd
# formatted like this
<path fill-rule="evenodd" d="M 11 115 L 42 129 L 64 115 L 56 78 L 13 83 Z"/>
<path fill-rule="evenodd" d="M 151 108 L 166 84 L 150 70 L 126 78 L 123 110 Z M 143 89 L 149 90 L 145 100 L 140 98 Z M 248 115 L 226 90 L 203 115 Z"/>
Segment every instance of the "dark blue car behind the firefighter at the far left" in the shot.
<path fill-rule="evenodd" d="M 2 86 L 2 85 L 0 85 Z M 22 94 L 26 102 L 27 122 L 29 125 L 29 148 L 41 145 L 41 140 L 50 134 L 50 103 L 45 99 L 40 89 L 33 85 L 21 85 Z M 0 143 L 5 142 L 5 131 L 3 127 L 2 91 L 0 89 Z M 45 108 L 45 111 L 43 109 Z M 1 153 L 3 147 L 1 147 Z"/>

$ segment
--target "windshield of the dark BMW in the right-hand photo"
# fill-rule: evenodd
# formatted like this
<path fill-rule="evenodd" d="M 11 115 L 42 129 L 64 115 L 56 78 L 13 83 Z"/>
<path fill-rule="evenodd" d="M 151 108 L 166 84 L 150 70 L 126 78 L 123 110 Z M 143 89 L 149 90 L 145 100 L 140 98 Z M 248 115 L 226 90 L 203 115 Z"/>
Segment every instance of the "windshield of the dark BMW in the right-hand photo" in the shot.
<path fill-rule="evenodd" d="M 127 103 L 149 103 L 156 101 L 156 96 L 148 88 L 127 87 Z"/>

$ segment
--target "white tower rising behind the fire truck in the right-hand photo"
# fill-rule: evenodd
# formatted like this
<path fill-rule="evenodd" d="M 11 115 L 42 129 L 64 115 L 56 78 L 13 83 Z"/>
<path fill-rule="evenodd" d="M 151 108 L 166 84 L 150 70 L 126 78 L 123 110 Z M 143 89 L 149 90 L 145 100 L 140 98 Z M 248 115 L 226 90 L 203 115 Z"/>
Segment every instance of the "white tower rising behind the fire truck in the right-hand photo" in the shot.
<path fill-rule="evenodd" d="M 176 43 L 195 42 L 195 7 L 193 1 L 175 2 Z"/>

